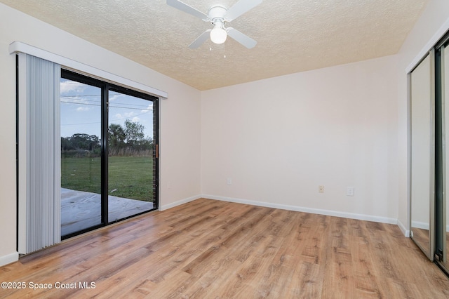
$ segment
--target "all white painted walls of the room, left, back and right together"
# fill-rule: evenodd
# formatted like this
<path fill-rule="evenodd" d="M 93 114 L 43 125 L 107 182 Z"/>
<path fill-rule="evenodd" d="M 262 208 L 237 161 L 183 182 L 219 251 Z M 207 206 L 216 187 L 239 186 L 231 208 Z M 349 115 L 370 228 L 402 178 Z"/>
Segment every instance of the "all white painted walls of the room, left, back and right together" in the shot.
<path fill-rule="evenodd" d="M 161 101 L 163 208 L 202 193 L 385 222 L 398 218 L 406 230 L 405 69 L 448 18 L 449 1 L 431 0 L 398 55 L 200 93 L 0 4 L 6 128 L 0 131 L 0 265 L 17 258 L 12 41 L 168 92 Z M 346 196 L 346 187 L 355 188 L 354 197 Z"/>

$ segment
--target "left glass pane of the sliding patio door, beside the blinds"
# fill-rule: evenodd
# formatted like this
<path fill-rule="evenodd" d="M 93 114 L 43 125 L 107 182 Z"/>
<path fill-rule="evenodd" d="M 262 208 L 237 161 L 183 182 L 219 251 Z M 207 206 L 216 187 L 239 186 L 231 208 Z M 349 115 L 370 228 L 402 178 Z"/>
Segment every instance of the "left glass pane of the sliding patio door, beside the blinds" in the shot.
<path fill-rule="evenodd" d="M 62 78 L 61 234 L 101 225 L 101 88 Z"/>

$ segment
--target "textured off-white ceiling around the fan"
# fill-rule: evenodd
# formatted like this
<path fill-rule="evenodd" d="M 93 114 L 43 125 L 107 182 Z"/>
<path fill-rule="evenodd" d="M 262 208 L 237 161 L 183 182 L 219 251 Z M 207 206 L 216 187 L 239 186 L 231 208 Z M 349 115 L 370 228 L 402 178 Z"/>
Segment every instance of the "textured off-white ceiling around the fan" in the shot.
<path fill-rule="evenodd" d="M 264 0 L 227 25 L 255 48 L 229 38 L 192 50 L 211 25 L 166 0 L 0 0 L 199 90 L 395 54 L 428 1 Z M 183 2 L 207 13 L 236 0 Z"/>

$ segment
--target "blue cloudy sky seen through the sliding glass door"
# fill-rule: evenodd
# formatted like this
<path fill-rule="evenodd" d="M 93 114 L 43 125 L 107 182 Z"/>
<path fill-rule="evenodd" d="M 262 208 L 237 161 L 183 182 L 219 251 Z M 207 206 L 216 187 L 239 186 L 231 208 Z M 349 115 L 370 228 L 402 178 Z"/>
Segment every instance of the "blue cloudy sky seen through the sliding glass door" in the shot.
<path fill-rule="evenodd" d="M 101 138 L 101 89 L 62 78 L 60 94 L 61 137 L 85 133 Z M 109 91 L 109 124 L 124 128 L 126 119 L 145 126 L 145 138 L 153 138 L 153 103 Z"/>

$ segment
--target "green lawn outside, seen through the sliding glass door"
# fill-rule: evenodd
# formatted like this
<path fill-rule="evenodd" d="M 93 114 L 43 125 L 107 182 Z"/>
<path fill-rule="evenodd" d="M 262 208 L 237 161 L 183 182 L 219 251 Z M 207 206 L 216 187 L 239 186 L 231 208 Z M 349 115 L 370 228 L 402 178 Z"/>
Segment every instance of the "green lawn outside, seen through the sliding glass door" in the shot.
<path fill-rule="evenodd" d="M 100 193 L 100 180 L 100 158 L 61 159 L 61 187 Z M 153 201 L 152 180 L 152 158 L 109 157 L 109 195 Z"/>

